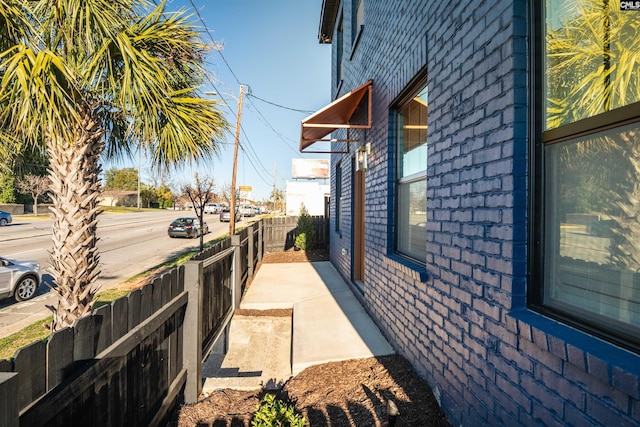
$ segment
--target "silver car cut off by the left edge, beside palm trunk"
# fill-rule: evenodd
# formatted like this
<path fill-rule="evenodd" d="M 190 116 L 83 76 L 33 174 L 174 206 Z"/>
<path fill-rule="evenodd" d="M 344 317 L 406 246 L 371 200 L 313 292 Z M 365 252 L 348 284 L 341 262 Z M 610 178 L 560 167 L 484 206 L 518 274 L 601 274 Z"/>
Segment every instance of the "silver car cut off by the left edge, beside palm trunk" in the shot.
<path fill-rule="evenodd" d="M 0 298 L 26 301 L 36 295 L 42 276 L 37 261 L 0 257 Z"/>

